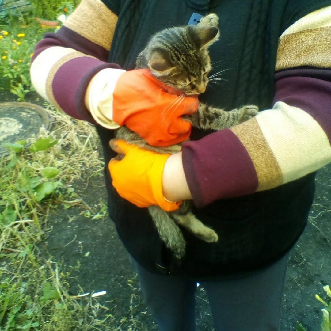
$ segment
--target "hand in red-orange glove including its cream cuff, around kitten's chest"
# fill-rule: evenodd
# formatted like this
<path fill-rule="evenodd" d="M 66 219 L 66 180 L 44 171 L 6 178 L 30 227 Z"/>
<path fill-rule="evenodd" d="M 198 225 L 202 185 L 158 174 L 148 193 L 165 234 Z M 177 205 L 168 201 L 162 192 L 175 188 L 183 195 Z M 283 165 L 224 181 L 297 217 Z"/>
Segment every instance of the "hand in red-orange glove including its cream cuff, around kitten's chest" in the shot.
<path fill-rule="evenodd" d="M 166 86 L 148 69 L 104 69 L 93 77 L 88 91 L 86 104 L 100 125 L 126 125 L 153 146 L 187 140 L 192 125 L 181 115 L 193 114 L 199 107 L 197 97 Z"/>

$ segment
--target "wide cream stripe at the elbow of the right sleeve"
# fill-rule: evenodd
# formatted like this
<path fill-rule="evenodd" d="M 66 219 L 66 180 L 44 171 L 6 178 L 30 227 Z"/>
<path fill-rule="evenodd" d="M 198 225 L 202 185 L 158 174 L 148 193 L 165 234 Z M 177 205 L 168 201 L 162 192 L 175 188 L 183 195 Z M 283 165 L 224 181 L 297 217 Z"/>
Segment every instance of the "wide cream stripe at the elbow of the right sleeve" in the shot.
<path fill-rule="evenodd" d="M 301 178 L 331 162 L 327 135 L 308 113 L 284 102 L 256 117 L 277 160 L 284 183 Z"/>

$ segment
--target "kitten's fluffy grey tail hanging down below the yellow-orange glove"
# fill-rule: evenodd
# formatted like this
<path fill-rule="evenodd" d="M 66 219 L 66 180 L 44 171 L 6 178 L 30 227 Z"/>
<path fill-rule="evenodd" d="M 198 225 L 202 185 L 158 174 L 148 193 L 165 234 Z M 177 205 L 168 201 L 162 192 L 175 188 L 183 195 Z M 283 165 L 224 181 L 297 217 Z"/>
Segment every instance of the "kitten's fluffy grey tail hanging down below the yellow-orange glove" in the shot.
<path fill-rule="evenodd" d="M 158 206 L 148 207 L 162 241 L 175 254 L 178 260 L 185 254 L 186 242 L 178 225 L 169 214 Z"/>

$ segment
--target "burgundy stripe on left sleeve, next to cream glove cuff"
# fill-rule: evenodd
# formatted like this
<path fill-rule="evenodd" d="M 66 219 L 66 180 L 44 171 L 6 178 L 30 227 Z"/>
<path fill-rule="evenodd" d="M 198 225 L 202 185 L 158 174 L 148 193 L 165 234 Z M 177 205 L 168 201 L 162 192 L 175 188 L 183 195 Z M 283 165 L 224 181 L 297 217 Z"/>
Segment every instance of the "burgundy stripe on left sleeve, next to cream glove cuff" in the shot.
<path fill-rule="evenodd" d="M 59 106 L 70 116 L 95 123 L 85 107 L 84 96 L 91 78 L 105 68 L 120 68 L 90 57 L 74 58 L 63 64 L 56 72 L 52 90 Z"/>

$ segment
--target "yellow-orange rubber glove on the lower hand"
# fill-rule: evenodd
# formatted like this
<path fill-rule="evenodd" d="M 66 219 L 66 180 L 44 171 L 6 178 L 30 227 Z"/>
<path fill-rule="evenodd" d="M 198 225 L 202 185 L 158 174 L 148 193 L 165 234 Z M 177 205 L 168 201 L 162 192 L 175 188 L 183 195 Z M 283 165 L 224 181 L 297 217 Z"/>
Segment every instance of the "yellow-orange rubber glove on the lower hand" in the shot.
<path fill-rule="evenodd" d="M 125 154 L 122 160 L 114 158 L 108 164 L 113 186 L 122 198 L 140 208 L 159 205 L 167 212 L 179 208 L 181 201 L 167 201 L 162 192 L 163 169 L 170 154 L 158 154 L 123 140 L 111 141 L 111 147 Z"/>

